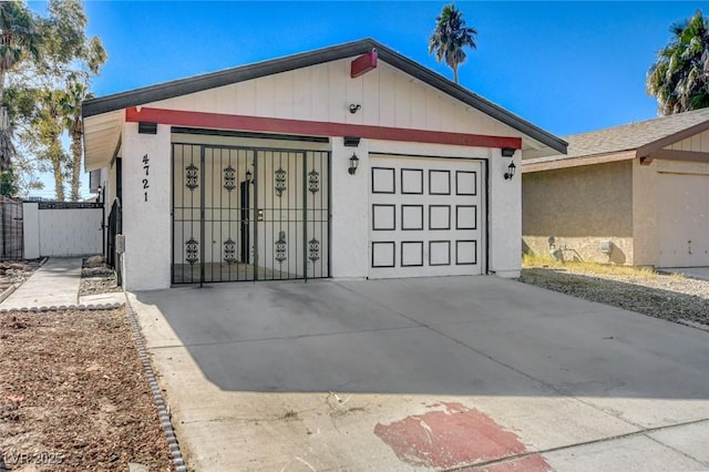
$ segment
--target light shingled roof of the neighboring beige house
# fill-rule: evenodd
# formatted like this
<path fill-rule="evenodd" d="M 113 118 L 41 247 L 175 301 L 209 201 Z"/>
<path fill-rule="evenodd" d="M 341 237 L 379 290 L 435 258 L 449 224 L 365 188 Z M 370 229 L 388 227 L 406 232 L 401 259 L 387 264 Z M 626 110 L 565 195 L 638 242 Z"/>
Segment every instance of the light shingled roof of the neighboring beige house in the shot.
<path fill-rule="evenodd" d="M 590 133 L 564 136 L 566 154 L 524 160 L 525 165 L 635 151 L 633 157 L 645 157 L 653 151 L 709 130 L 709 109 L 661 116 L 637 123 L 607 127 Z"/>

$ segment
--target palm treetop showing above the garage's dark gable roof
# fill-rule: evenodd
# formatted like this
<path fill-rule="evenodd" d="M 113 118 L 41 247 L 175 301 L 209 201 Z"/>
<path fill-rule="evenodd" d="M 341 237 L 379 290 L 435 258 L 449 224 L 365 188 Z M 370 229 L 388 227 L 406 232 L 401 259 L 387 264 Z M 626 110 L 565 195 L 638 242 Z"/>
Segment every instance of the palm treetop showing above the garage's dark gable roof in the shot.
<path fill-rule="evenodd" d="M 466 58 L 463 48 L 476 49 L 476 38 L 477 30 L 465 27 L 463 13 L 455 4 L 446 4 L 435 19 L 435 30 L 429 38 L 429 53 L 435 51 L 435 60 L 439 63 L 445 60 L 448 66 L 453 70 L 453 80 L 458 83 L 458 68 Z"/>

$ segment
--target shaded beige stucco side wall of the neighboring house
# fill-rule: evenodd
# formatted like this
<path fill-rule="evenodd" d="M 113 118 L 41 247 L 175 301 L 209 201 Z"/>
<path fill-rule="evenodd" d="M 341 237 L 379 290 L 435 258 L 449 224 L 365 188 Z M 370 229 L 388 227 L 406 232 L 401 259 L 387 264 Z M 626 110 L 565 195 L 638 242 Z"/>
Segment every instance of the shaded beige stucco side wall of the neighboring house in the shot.
<path fill-rule="evenodd" d="M 633 162 L 522 175 L 523 250 L 564 259 L 635 264 Z M 549 237 L 555 246 L 549 248 Z M 600 243 L 610 242 L 609 255 Z"/>

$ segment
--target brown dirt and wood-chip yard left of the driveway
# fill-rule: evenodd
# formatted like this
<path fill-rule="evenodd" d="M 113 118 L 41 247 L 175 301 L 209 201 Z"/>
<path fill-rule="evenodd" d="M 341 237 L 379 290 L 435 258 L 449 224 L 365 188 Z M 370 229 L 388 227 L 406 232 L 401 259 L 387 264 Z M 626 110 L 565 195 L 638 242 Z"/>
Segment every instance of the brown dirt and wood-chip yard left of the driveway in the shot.
<path fill-rule="evenodd" d="M 125 309 L 0 315 L 0 471 L 169 471 Z"/>

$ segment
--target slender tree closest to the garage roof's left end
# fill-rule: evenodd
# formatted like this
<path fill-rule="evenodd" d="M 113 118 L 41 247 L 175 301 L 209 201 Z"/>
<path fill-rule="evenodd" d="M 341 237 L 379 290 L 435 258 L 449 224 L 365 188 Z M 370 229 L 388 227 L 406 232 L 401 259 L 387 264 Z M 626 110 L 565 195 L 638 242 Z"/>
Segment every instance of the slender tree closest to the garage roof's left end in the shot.
<path fill-rule="evenodd" d="M 63 96 L 62 107 L 64 115 L 64 126 L 69 131 L 71 138 L 71 201 L 79 201 L 79 187 L 81 186 L 81 156 L 83 121 L 81 117 L 81 102 L 93 99 L 85 83 L 73 78 L 66 86 L 66 94 Z"/>

